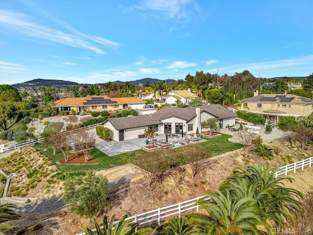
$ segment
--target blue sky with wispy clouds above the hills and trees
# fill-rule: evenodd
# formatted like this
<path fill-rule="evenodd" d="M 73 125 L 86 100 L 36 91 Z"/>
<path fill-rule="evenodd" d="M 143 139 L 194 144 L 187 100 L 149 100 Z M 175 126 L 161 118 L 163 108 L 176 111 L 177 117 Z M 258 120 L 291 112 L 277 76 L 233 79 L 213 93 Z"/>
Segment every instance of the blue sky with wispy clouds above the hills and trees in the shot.
<path fill-rule="evenodd" d="M 313 72 L 312 0 L 0 1 L 0 83 Z"/>

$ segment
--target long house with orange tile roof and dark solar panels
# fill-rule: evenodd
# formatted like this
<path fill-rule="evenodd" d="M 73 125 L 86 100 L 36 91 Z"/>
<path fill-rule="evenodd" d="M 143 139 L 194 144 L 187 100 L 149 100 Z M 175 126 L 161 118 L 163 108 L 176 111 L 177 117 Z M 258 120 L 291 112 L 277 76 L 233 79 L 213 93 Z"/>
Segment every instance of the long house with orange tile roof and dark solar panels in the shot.
<path fill-rule="evenodd" d="M 54 102 L 59 111 L 116 111 L 123 108 L 144 109 L 146 101 L 134 97 L 109 98 L 104 95 L 64 98 Z"/>

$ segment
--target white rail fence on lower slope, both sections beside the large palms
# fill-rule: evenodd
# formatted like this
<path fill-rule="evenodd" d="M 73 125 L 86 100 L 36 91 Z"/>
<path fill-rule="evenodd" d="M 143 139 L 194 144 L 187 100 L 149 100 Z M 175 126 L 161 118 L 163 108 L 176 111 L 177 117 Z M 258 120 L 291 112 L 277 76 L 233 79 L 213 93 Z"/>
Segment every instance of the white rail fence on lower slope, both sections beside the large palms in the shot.
<path fill-rule="evenodd" d="M 275 178 L 277 178 L 279 175 L 287 176 L 288 172 L 292 171 L 293 173 L 295 173 L 296 169 L 303 170 L 305 167 L 307 166 L 311 167 L 312 165 L 313 165 L 313 158 L 308 158 L 308 159 L 278 168 L 274 176 Z M 139 225 L 152 224 L 153 222 L 157 221 L 157 224 L 159 225 L 162 219 L 169 217 L 171 215 L 178 214 L 178 216 L 180 217 L 182 212 L 194 210 L 194 209 L 197 209 L 197 212 L 199 212 L 199 205 L 196 205 L 196 202 L 199 199 L 203 199 L 205 201 L 211 200 L 210 197 L 201 196 L 201 197 L 193 198 L 188 201 L 179 202 L 177 204 L 170 205 L 167 207 L 162 207 L 162 208 L 158 208 L 152 211 L 135 214 L 131 217 L 127 217 L 125 220 L 132 219 L 131 223 L 139 223 Z M 118 221 L 115 221 L 113 224 L 116 224 L 116 223 L 118 223 Z M 100 227 L 100 228 L 103 228 L 103 227 Z M 96 229 L 93 229 L 91 231 L 96 231 Z M 76 235 L 85 235 L 85 234 L 86 233 L 81 233 L 81 234 L 76 234 Z"/>

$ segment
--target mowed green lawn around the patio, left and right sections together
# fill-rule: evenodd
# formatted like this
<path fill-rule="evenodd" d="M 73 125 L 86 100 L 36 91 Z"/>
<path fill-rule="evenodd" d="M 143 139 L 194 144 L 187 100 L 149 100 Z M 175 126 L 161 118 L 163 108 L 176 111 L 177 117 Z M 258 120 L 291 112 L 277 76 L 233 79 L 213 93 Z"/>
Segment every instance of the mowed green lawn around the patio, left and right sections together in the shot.
<path fill-rule="evenodd" d="M 212 156 L 230 152 L 239 148 L 242 148 L 242 145 L 239 143 L 229 142 L 228 138 L 230 135 L 222 134 L 221 137 L 217 138 L 206 138 L 203 137 L 205 142 L 199 143 L 204 146 L 208 151 L 212 153 Z M 101 152 L 99 149 L 95 148 L 90 152 L 91 158 L 93 158 L 97 163 L 96 164 L 58 164 L 58 162 L 64 158 L 60 150 L 56 151 L 56 154 L 53 155 L 52 148 L 47 148 L 44 143 L 36 144 L 34 147 L 46 157 L 48 157 L 60 171 L 83 171 L 83 170 L 102 170 L 112 168 L 114 166 L 124 165 L 132 163 L 132 158 L 136 154 L 143 150 L 136 150 L 129 153 L 123 153 L 115 156 L 108 156 L 105 153 Z"/>

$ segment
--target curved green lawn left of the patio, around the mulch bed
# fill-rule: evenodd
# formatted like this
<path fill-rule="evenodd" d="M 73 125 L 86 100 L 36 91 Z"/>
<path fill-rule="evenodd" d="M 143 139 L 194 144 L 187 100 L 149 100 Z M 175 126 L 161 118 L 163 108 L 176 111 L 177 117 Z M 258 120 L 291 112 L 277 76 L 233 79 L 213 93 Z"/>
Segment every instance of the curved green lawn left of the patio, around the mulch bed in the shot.
<path fill-rule="evenodd" d="M 119 165 L 124 165 L 130 163 L 130 159 L 133 158 L 137 152 L 142 150 L 137 150 L 129 153 L 123 153 L 116 156 L 109 157 L 105 153 L 101 152 L 99 149 L 95 148 L 91 150 L 90 156 L 97 163 L 96 164 L 58 164 L 58 162 L 64 158 L 64 155 L 60 150 L 56 151 L 53 155 L 52 148 L 47 148 L 44 143 L 36 144 L 34 147 L 46 157 L 51 159 L 51 161 L 56 164 L 56 167 L 60 171 L 81 171 L 81 170 L 102 170 L 108 169 Z"/>

